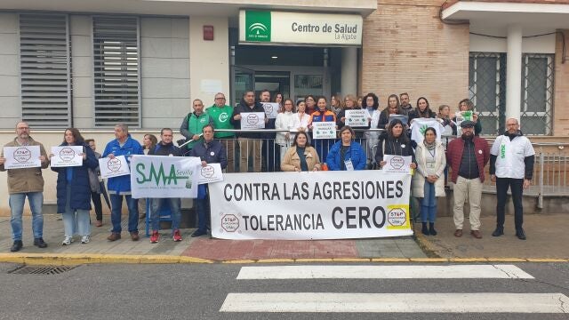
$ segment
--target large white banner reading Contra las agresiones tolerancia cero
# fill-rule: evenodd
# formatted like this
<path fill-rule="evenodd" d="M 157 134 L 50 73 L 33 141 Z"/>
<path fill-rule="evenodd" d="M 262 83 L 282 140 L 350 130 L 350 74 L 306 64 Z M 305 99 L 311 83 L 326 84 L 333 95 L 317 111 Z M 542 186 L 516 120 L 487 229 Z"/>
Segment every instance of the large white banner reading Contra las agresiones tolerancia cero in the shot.
<path fill-rule="evenodd" d="M 408 174 L 228 173 L 224 179 L 209 185 L 214 237 L 310 240 L 413 234 Z"/>

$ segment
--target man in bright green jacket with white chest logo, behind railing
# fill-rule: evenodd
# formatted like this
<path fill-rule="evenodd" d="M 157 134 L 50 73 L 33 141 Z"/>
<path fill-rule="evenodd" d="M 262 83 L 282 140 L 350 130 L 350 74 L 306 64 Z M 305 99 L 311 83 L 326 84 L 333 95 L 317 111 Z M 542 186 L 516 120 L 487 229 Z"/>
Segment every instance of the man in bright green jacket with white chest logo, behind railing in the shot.
<path fill-rule="evenodd" d="M 231 124 L 233 108 L 226 104 L 225 95 L 221 92 L 217 92 L 212 107 L 207 108 L 205 112 L 210 115 L 213 127 L 216 129 L 215 139 L 220 140 L 228 152 L 227 172 L 235 172 L 235 133 L 218 131 L 218 129 L 235 129 L 233 124 Z"/>

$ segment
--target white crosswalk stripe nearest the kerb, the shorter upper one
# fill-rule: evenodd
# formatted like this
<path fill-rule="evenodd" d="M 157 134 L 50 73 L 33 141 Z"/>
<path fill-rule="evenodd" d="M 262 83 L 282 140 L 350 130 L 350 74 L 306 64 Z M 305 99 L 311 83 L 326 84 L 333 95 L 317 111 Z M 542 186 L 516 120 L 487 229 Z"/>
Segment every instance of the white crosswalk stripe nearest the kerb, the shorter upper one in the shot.
<path fill-rule="evenodd" d="M 533 279 L 514 265 L 243 267 L 244 279 Z"/>

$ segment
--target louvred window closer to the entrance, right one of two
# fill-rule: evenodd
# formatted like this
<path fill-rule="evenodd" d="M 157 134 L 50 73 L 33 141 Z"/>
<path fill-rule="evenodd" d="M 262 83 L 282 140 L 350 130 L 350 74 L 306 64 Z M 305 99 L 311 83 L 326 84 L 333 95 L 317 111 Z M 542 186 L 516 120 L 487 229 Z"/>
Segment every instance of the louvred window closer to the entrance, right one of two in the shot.
<path fill-rule="evenodd" d="M 137 17 L 92 18 L 95 126 L 140 126 Z"/>

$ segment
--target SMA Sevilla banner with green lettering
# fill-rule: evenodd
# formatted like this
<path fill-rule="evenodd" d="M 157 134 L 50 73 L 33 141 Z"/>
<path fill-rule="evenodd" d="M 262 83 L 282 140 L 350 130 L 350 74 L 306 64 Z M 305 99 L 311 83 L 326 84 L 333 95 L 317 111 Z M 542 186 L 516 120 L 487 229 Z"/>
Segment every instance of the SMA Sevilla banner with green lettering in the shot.
<path fill-rule="evenodd" d="M 195 198 L 202 161 L 196 156 L 133 156 L 132 197 Z"/>

